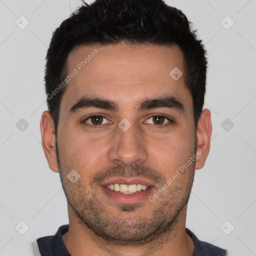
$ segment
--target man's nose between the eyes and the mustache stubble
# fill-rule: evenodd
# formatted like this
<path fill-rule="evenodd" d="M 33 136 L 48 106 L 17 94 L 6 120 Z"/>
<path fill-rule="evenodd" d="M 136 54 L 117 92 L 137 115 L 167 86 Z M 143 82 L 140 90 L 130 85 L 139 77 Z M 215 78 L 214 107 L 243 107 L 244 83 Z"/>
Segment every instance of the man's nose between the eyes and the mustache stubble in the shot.
<path fill-rule="evenodd" d="M 115 164 L 131 167 L 133 164 L 142 164 L 148 158 L 146 143 L 135 124 L 125 131 L 116 126 L 116 134 L 110 143 L 108 159 Z"/>

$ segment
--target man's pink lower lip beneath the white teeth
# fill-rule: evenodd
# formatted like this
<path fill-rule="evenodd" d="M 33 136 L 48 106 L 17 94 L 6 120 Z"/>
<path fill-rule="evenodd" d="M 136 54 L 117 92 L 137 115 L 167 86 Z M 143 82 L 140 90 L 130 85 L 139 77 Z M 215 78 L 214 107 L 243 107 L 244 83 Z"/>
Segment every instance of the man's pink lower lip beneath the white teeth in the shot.
<path fill-rule="evenodd" d="M 149 194 L 152 193 L 153 187 L 149 187 L 146 190 L 141 190 L 139 192 L 133 194 L 123 194 L 120 192 L 116 192 L 114 190 L 110 190 L 104 186 L 100 186 L 103 192 L 110 197 L 112 200 L 118 203 L 136 203 L 141 202 L 144 199 L 149 197 Z"/>

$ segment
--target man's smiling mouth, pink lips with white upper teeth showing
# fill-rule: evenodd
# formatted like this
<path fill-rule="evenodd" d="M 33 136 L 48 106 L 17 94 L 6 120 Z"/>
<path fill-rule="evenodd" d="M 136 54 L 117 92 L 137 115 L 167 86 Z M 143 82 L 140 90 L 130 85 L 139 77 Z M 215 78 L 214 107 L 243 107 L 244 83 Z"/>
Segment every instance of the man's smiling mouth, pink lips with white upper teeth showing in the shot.
<path fill-rule="evenodd" d="M 154 184 L 141 178 L 112 178 L 100 185 L 109 199 L 118 203 L 136 203 L 152 193 Z"/>

